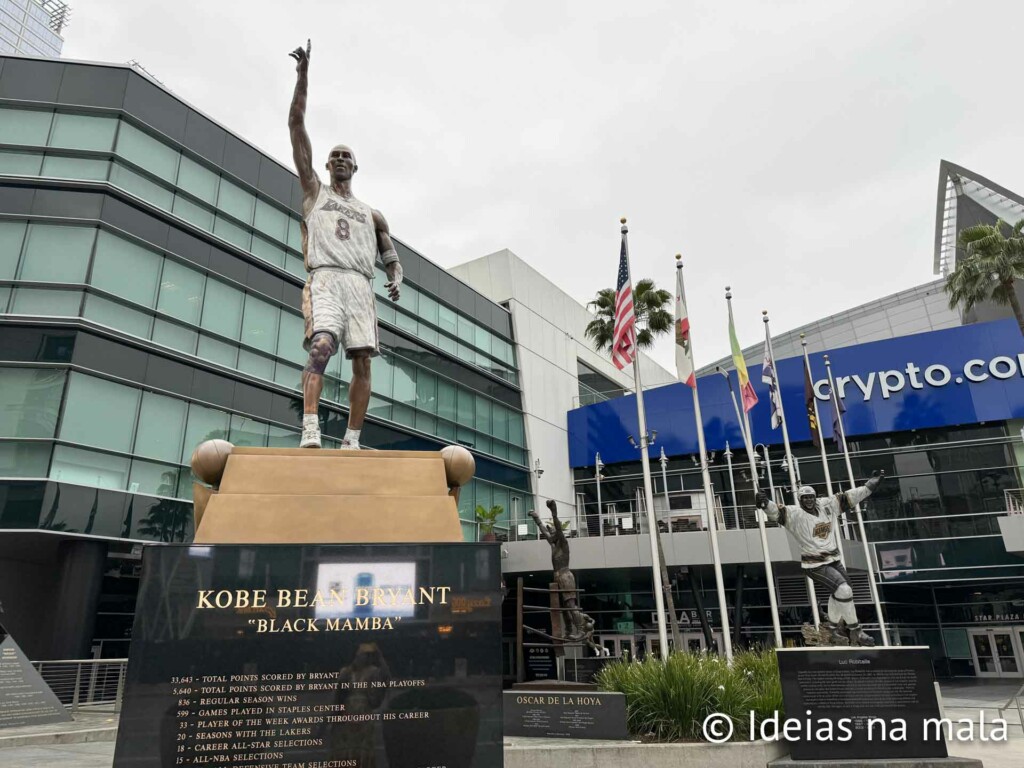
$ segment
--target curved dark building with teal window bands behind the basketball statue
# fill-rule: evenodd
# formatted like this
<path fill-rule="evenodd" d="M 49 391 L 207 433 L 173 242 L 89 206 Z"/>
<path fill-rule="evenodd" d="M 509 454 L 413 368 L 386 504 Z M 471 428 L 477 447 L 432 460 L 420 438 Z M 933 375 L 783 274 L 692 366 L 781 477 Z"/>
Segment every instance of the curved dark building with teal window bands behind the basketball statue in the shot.
<path fill-rule="evenodd" d="M 289 169 L 128 68 L 0 58 L 0 539 L 99 537 L 100 567 L 124 575 L 112 558 L 132 560 L 134 542 L 189 541 L 198 442 L 298 444 L 300 200 Z M 469 447 L 472 540 L 477 505 L 502 506 L 502 529 L 529 493 L 511 321 L 396 247 L 400 301 L 374 282 L 364 441 Z M 328 446 L 350 373 L 344 355 L 327 372 Z M 0 583 L 5 554 L 0 542 Z M 89 639 L 118 655 L 131 596 L 104 611 L 110 581 Z M 108 614 L 128 618 L 106 631 Z"/>

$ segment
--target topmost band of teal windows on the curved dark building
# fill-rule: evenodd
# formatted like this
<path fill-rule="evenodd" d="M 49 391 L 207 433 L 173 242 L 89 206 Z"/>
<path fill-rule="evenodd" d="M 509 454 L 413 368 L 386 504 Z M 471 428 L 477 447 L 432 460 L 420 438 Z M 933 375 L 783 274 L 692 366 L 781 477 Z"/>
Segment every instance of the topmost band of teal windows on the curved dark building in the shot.
<path fill-rule="evenodd" d="M 0 145 L 13 147 L 0 151 L 0 174 L 108 182 L 305 280 L 297 216 L 123 118 L 0 108 Z M 383 282 L 382 321 L 517 383 L 508 340 L 410 284 L 386 300 Z"/>

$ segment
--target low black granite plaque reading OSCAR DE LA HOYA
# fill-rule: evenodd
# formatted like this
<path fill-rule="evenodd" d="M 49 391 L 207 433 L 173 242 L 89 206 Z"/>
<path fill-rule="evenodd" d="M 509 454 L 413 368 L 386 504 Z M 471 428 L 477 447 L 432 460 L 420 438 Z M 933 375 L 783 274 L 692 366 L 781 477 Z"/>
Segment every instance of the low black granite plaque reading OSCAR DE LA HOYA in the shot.
<path fill-rule="evenodd" d="M 596 691 L 505 691 L 505 735 L 626 739 L 626 696 Z"/>

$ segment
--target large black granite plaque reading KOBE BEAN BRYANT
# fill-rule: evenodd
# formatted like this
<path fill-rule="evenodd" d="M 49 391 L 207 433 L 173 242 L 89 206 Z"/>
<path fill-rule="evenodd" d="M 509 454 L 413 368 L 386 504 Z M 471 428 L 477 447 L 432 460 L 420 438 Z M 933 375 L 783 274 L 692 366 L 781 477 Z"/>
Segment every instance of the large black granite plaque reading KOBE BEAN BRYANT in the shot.
<path fill-rule="evenodd" d="M 487 544 L 147 547 L 114 768 L 500 768 L 500 586 Z"/>

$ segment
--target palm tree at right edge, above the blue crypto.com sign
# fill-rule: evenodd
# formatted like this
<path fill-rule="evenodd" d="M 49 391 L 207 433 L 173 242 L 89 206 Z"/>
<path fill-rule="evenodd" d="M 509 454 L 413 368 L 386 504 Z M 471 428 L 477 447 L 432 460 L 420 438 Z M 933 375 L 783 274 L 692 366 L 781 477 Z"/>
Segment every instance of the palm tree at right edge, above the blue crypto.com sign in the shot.
<path fill-rule="evenodd" d="M 1004 228 L 1010 237 L 1004 234 Z M 970 311 L 982 301 L 992 301 L 1013 309 L 1024 336 L 1024 310 L 1014 282 L 1024 280 L 1024 219 L 1012 227 L 1002 219 L 994 224 L 969 226 L 959 233 L 956 245 L 964 254 L 956 268 L 946 279 L 949 308 L 957 304 Z"/>

